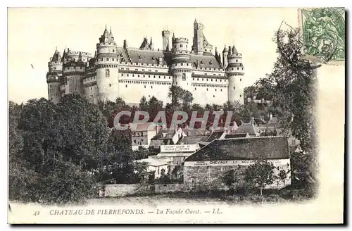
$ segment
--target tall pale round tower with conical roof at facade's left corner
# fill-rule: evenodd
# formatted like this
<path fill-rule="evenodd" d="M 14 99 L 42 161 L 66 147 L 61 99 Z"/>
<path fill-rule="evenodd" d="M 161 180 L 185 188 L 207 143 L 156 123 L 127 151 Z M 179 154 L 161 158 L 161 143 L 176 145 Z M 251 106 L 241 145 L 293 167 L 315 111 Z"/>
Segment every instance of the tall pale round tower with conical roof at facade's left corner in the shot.
<path fill-rule="evenodd" d="M 96 44 L 96 87 L 98 99 L 115 101 L 118 98 L 118 53 L 113 33 L 103 31 Z"/>

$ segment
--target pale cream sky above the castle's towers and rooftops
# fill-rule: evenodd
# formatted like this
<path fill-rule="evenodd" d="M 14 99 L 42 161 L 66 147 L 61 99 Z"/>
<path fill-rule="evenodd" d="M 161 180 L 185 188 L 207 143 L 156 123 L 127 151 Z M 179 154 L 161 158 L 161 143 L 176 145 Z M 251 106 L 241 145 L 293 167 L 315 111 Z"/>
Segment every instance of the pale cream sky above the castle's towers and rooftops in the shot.
<path fill-rule="evenodd" d="M 66 47 L 94 55 L 105 26 L 118 46 L 126 39 L 139 47 L 146 36 L 162 49 L 166 29 L 191 44 L 194 19 L 218 51 L 236 46 L 246 68 L 244 86 L 250 86 L 272 71 L 275 30 L 283 20 L 298 27 L 297 16 L 296 8 L 8 8 L 8 99 L 47 98 L 47 65 L 56 47 L 61 54 Z"/>

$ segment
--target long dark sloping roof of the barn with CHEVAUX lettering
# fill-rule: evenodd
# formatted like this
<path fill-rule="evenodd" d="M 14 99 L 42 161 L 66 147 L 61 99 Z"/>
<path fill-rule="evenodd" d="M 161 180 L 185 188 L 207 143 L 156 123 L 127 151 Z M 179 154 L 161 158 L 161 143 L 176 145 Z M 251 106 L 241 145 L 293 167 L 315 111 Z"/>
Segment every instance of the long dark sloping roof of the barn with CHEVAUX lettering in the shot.
<path fill-rule="evenodd" d="M 215 139 L 185 161 L 221 161 L 289 158 L 286 137 Z"/>

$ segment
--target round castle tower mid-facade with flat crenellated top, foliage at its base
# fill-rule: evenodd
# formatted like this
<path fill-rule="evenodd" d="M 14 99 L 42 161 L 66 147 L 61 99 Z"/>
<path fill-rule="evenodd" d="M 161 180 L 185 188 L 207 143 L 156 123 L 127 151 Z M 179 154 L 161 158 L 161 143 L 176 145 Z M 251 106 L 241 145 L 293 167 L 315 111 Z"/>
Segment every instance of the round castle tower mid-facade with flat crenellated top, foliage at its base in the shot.
<path fill-rule="evenodd" d="M 193 66 L 191 52 L 187 50 L 188 39 L 175 38 L 172 46 L 172 85 L 191 92 L 191 75 Z"/>

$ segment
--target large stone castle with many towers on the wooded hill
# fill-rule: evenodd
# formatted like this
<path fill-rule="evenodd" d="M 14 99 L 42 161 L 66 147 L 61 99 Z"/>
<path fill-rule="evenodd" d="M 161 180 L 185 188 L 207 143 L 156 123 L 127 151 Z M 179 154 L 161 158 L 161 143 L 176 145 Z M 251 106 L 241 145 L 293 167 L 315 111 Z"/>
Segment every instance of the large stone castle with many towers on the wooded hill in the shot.
<path fill-rule="evenodd" d="M 244 103 L 242 56 L 235 46 L 225 46 L 222 57 L 207 41 L 203 24 L 194 20 L 194 38 L 170 37 L 163 30 L 163 49 L 154 49 L 146 37 L 139 47 L 116 44 L 113 33 L 105 28 L 96 44 L 94 56 L 87 52 L 66 49 L 63 56 L 55 51 L 46 74 L 49 100 L 58 103 L 63 94 L 82 94 L 92 103 L 115 101 L 139 104 L 142 96 L 168 99 L 172 85 L 193 94 L 194 104 L 224 104 L 225 101 Z M 171 43 L 170 43 L 171 40 Z"/>

